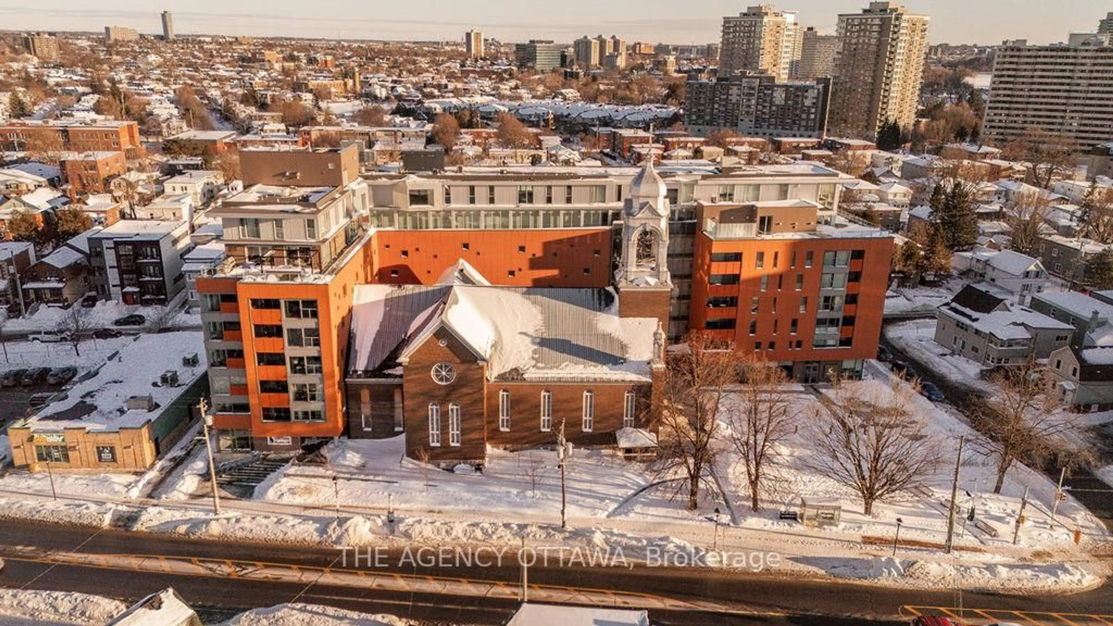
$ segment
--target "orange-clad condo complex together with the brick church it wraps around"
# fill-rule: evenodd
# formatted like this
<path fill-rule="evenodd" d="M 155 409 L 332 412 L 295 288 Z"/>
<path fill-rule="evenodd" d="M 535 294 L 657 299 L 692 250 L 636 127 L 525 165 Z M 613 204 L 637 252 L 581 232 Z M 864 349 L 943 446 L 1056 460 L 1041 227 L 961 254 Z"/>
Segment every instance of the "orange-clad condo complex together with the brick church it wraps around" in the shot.
<path fill-rule="evenodd" d="M 876 355 L 893 241 L 838 215 L 837 172 L 361 177 L 355 149 L 284 150 L 313 187 L 245 176 L 210 211 L 227 260 L 197 291 L 221 449 L 403 433 L 411 454 L 482 463 L 556 423 L 613 443 L 649 428 L 663 345 L 697 329 L 804 381 Z"/>

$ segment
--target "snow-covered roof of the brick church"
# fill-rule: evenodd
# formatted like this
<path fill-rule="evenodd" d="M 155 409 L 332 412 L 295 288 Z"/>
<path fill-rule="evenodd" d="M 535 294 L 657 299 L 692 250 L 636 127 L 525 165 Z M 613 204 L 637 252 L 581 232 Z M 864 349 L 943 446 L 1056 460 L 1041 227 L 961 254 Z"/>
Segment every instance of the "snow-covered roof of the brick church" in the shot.
<path fill-rule="evenodd" d="M 359 285 L 353 297 L 355 372 L 391 369 L 444 327 L 492 379 L 649 380 L 658 322 L 619 317 L 610 288 Z"/>

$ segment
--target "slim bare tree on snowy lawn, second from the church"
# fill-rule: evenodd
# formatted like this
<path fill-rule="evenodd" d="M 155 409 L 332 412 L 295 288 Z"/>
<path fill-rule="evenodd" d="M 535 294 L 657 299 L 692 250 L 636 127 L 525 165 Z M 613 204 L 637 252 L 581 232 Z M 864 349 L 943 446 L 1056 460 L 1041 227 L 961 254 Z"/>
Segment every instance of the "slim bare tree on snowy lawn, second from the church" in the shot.
<path fill-rule="evenodd" d="M 752 361 L 728 411 L 730 442 L 738 452 L 750 488 L 750 508 L 761 509 L 761 495 L 776 479 L 782 462 L 780 444 L 794 432 L 796 412 L 786 388 L 788 375 L 776 363 Z"/>

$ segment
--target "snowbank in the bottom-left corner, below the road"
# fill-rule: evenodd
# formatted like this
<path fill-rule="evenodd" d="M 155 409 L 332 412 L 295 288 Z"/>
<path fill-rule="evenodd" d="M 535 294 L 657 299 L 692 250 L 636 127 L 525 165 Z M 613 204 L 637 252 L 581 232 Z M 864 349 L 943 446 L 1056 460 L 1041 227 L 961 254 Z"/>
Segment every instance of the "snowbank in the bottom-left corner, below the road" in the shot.
<path fill-rule="evenodd" d="M 127 608 L 119 600 L 72 591 L 0 589 L 0 624 L 100 626 Z"/>

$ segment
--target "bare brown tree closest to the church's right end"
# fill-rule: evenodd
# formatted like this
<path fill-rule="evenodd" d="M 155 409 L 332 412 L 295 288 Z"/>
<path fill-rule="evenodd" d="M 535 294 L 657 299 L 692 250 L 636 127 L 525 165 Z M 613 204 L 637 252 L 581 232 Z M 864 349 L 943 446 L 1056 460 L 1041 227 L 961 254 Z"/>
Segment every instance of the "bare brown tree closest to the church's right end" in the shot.
<path fill-rule="evenodd" d="M 719 349 L 727 348 L 727 349 Z M 699 506 L 700 486 L 709 480 L 720 439 L 719 408 L 737 381 L 738 358 L 707 335 L 688 335 L 686 350 L 670 356 L 661 381 L 664 400 L 657 409 L 660 470 L 682 475 L 677 493 L 688 489 L 688 508 Z"/>

